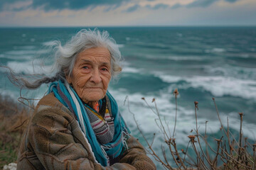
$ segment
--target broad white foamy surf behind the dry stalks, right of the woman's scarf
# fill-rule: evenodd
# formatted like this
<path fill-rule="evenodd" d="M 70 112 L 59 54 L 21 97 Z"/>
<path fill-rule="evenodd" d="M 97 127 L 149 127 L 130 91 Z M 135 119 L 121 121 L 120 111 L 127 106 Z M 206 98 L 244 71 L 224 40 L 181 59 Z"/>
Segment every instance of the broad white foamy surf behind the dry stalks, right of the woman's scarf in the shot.
<path fill-rule="evenodd" d="M 160 132 L 159 128 L 157 128 L 156 122 L 159 123 L 159 120 L 157 118 L 156 108 L 154 107 L 154 103 L 151 103 L 152 98 L 154 96 L 148 95 L 144 96 L 142 94 L 127 94 L 127 91 L 124 89 L 117 90 L 117 89 L 110 89 L 110 92 L 112 93 L 112 96 L 117 100 L 117 103 L 119 103 L 119 108 L 121 110 L 122 116 L 124 117 L 124 120 L 126 120 L 127 125 L 129 126 L 130 130 L 132 130 L 133 133 L 137 133 L 137 124 L 139 125 L 139 128 L 142 130 L 145 136 L 153 137 L 153 134 L 156 133 L 160 135 L 159 137 L 156 137 L 155 144 L 157 146 L 161 145 L 163 143 L 163 136 L 162 132 Z M 128 101 L 126 99 L 126 96 L 129 96 L 129 108 L 128 108 Z M 141 99 L 142 97 L 145 98 L 145 100 L 149 103 L 149 106 L 146 106 L 145 102 Z M 124 105 L 124 101 L 126 104 Z M 164 123 L 164 126 L 166 128 L 166 131 L 171 133 L 173 135 L 174 132 L 174 124 L 175 124 L 175 101 L 174 96 L 161 93 L 160 96 L 156 96 L 156 103 L 157 107 L 162 121 Z M 153 110 L 153 111 L 152 111 Z M 135 116 L 135 122 L 133 115 L 129 112 L 132 111 Z M 205 123 L 206 120 L 208 121 L 207 124 L 207 132 L 208 134 L 215 134 L 220 131 L 220 122 L 217 118 L 214 120 L 208 120 L 207 118 L 200 116 L 200 111 L 198 113 L 198 127 L 199 132 L 204 133 L 205 130 Z M 239 127 L 237 126 L 239 123 L 238 116 L 233 115 L 235 113 L 230 113 L 229 115 L 225 115 L 224 113 L 220 112 L 220 118 L 223 121 L 223 125 L 227 127 L 227 116 L 229 117 L 229 125 L 230 128 L 233 128 L 237 132 L 239 132 Z M 236 113 L 238 114 L 238 113 Z M 166 125 L 166 123 L 168 125 Z M 168 130 L 169 129 L 169 130 Z M 195 112 L 193 109 L 183 108 L 181 106 L 178 106 L 178 114 L 176 119 L 176 132 L 175 137 L 176 141 L 178 141 L 178 145 L 184 145 L 186 146 L 188 144 L 188 135 L 195 134 L 194 129 L 196 129 L 196 119 L 195 119 Z M 193 132 L 191 132 L 193 130 Z M 255 132 L 256 132 L 256 125 L 253 125 L 252 123 L 244 123 L 243 128 L 243 134 L 250 139 L 255 139 Z M 140 135 L 139 135 L 140 136 Z"/>

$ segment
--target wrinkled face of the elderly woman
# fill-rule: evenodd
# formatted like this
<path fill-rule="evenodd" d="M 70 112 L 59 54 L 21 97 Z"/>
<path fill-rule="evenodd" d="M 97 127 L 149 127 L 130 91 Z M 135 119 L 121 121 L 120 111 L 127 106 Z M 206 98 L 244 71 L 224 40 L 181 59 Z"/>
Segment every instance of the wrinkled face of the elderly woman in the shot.
<path fill-rule="evenodd" d="M 105 47 L 92 47 L 78 54 L 72 75 L 66 77 L 85 103 L 104 98 L 111 79 L 110 52 Z"/>

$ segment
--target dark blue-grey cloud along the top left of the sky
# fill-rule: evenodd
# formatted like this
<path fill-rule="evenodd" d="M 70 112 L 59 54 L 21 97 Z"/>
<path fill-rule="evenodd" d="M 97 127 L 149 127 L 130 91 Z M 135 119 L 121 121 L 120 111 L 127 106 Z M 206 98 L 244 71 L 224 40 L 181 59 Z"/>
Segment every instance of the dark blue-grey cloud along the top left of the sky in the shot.
<path fill-rule="evenodd" d="M 1 0 L 0 11 L 9 10 L 8 6 L 24 0 Z M 28 1 L 28 0 L 25 0 Z M 31 4 L 27 8 L 42 8 L 44 11 L 51 10 L 78 10 L 82 8 L 94 8 L 95 6 L 119 6 L 130 0 L 30 0 Z M 7 6 L 7 7 L 6 7 Z"/>

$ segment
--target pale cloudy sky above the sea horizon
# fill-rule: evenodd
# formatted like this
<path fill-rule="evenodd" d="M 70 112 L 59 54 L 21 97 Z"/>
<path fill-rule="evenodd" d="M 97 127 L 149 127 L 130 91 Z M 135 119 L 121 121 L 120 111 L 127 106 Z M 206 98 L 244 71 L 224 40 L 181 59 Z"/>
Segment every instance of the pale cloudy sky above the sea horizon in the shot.
<path fill-rule="evenodd" d="M 0 0 L 0 27 L 256 26 L 256 0 Z"/>

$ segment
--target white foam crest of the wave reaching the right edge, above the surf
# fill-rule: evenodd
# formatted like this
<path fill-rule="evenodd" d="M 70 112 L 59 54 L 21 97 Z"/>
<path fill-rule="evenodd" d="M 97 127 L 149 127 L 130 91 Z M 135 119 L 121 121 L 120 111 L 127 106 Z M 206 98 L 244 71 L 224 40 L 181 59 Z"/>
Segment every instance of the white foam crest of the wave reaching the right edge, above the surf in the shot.
<path fill-rule="evenodd" d="M 213 96 L 220 97 L 225 95 L 254 99 L 256 100 L 256 80 L 237 79 L 234 77 L 176 77 L 166 74 L 154 74 L 162 81 L 167 83 L 176 83 L 178 81 L 186 81 L 189 84 L 180 86 L 181 89 L 188 87 L 202 88 L 209 91 Z"/>

